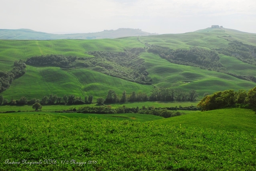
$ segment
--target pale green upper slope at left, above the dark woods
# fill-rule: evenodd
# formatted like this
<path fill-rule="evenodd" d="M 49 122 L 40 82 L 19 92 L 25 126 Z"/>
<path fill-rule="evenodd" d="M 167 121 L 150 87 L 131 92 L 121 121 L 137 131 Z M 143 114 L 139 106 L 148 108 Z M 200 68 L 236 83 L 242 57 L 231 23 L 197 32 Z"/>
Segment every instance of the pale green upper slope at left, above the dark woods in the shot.
<path fill-rule="evenodd" d="M 10 41 L 0 40 L 1 60 L 14 61 L 35 55 L 63 54 L 85 57 L 86 51 L 124 51 L 124 48 L 144 47 L 136 37 L 101 40 Z M 90 56 L 89 56 L 90 57 Z"/>

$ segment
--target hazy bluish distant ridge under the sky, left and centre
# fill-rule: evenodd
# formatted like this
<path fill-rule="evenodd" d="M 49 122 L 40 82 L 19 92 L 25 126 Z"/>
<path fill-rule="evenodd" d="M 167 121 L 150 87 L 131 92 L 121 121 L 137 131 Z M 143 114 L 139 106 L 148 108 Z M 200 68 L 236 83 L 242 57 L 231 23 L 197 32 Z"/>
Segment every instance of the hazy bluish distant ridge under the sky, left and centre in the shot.
<path fill-rule="evenodd" d="M 105 39 L 130 36 L 156 35 L 141 31 L 141 29 L 118 28 L 117 30 L 104 30 L 97 33 L 78 34 L 51 34 L 37 32 L 30 29 L 0 29 L 0 39 L 2 40 L 57 40 L 57 39 Z"/>

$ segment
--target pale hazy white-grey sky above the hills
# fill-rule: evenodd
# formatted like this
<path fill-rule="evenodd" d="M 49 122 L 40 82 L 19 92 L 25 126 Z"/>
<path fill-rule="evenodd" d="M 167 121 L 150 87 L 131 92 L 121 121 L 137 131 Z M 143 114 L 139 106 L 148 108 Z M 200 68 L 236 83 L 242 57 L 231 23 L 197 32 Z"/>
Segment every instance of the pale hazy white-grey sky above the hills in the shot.
<path fill-rule="evenodd" d="M 220 25 L 256 33 L 255 0 L 0 0 L 0 29 L 185 33 Z"/>

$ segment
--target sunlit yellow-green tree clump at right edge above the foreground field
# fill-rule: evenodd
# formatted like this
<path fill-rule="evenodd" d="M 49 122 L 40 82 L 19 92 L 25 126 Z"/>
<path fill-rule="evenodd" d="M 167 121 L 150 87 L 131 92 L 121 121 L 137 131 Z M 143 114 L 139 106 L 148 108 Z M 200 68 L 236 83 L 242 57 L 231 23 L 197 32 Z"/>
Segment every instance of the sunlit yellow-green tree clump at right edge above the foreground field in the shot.
<path fill-rule="evenodd" d="M 218 91 L 212 95 L 205 96 L 197 105 L 202 111 L 209 111 L 228 107 L 234 104 L 250 104 L 256 105 L 256 87 L 246 90 L 240 89 L 234 91 L 233 89 Z"/>

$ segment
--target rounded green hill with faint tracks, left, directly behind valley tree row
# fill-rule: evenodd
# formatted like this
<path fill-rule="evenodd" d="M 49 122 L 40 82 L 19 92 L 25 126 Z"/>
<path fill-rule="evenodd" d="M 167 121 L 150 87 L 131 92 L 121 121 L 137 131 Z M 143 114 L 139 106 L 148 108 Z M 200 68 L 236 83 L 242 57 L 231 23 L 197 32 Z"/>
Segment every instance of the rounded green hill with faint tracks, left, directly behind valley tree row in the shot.
<path fill-rule="evenodd" d="M 62 70 L 58 67 L 32 67 L 27 66 L 27 73 L 16 79 L 11 87 L 1 93 L 5 98 L 19 99 L 22 96 L 41 99 L 45 95 L 74 94 L 75 96 L 93 95 L 106 97 L 108 90 L 112 89 L 121 96 L 126 90 L 149 93 L 153 89 L 150 85 L 141 85 L 99 72 L 86 69 Z"/>

